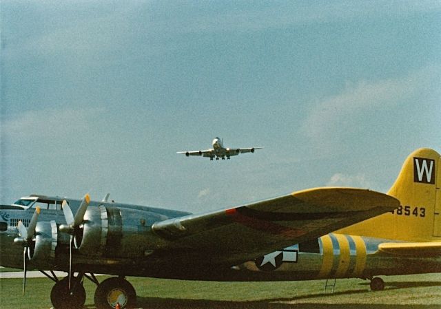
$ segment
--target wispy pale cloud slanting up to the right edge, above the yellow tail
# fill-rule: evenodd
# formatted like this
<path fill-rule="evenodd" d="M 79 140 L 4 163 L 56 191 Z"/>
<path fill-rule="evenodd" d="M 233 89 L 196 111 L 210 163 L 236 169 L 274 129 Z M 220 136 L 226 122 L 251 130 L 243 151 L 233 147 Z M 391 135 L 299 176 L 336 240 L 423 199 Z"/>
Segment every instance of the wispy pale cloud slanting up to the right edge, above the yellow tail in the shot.
<path fill-rule="evenodd" d="M 439 71 L 440 67 L 432 65 L 400 78 L 347 83 L 340 94 L 324 98 L 313 106 L 302 123 L 302 131 L 314 147 L 330 152 L 342 149 L 350 136 L 360 137 L 371 129 L 373 120 L 369 116 L 396 114 L 410 98 L 420 92 L 430 92 Z"/>

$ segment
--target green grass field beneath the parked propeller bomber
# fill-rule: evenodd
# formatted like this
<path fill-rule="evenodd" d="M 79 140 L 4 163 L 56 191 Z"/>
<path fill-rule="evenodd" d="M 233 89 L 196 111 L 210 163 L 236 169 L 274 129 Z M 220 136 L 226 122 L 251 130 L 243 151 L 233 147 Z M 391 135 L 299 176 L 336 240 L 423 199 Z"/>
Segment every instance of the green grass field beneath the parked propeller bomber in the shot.
<path fill-rule="evenodd" d="M 379 292 L 369 289 L 369 281 L 339 279 L 334 295 L 323 295 L 324 280 L 232 283 L 127 279 L 136 288 L 138 307 L 144 309 L 441 309 L 441 274 L 383 277 L 386 288 Z M 28 279 L 23 297 L 21 279 L 1 279 L 0 308 L 48 309 L 52 285 L 49 279 Z M 88 293 L 85 308 L 92 309 L 94 284 L 86 280 L 84 286 Z"/>

